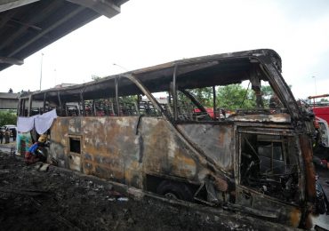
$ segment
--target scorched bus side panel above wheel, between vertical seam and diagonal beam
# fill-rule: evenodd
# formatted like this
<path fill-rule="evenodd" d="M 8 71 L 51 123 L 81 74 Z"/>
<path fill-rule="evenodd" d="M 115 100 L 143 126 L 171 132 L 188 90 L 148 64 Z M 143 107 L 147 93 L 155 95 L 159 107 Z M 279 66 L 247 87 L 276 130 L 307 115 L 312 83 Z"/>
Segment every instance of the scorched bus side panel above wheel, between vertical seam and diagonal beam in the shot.
<path fill-rule="evenodd" d="M 148 174 L 177 177 L 198 182 L 205 171 L 190 155 L 189 150 L 173 128 L 161 118 L 143 118 L 140 123 L 143 142 L 143 169 Z"/>

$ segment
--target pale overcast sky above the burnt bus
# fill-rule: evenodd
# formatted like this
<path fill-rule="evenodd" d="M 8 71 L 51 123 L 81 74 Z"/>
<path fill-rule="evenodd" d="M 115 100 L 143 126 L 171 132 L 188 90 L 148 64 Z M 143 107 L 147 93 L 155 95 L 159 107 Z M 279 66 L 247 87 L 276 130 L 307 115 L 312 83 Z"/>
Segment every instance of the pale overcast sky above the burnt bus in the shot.
<path fill-rule="evenodd" d="M 130 0 L 0 72 L 0 92 L 81 84 L 183 58 L 274 49 L 295 98 L 329 93 L 328 0 Z M 116 63 L 117 65 L 113 65 Z M 315 77 L 312 77 L 315 76 Z"/>

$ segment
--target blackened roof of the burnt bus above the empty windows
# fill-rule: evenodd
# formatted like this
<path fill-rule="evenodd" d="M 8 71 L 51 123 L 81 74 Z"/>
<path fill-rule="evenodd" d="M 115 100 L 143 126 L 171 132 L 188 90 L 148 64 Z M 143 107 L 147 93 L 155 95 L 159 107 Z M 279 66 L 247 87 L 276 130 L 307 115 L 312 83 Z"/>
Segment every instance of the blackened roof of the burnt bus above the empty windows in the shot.
<path fill-rule="evenodd" d="M 77 100 L 84 93 L 84 100 L 109 98 L 115 96 L 115 81 L 124 75 L 136 76 L 149 92 L 167 92 L 173 81 L 176 67 L 177 86 L 181 89 L 201 88 L 213 85 L 240 84 L 249 79 L 249 73 L 255 63 L 261 59 L 273 63 L 281 72 L 281 58 L 277 52 L 269 49 L 250 50 L 245 52 L 229 52 L 191 59 L 175 60 L 149 68 L 132 70 L 115 76 L 106 76 L 85 84 L 76 84 L 60 89 L 48 89 L 42 92 L 32 92 L 33 99 L 57 100 L 58 93 L 62 100 Z M 120 78 L 120 95 L 140 94 L 140 89 L 129 79 Z M 23 97 L 23 95 L 22 95 Z"/>

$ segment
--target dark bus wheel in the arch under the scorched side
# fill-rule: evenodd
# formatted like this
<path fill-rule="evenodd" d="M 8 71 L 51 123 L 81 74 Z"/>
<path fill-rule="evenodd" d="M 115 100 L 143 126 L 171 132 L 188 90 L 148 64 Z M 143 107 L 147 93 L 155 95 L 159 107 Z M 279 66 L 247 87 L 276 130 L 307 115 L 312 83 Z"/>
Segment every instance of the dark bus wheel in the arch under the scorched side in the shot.
<path fill-rule="evenodd" d="M 156 193 L 173 200 L 193 201 L 193 195 L 189 187 L 183 183 L 169 180 L 162 181 L 156 188 Z"/>

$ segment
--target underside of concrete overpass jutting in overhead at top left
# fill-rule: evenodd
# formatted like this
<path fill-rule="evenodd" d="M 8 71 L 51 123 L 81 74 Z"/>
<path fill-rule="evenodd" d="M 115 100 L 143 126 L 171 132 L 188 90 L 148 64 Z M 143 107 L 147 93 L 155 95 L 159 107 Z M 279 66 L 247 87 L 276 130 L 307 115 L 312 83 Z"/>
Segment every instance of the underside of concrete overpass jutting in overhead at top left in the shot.
<path fill-rule="evenodd" d="M 76 28 L 105 15 L 112 18 L 128 0 L 0 1 L 0 71 Z"/>

